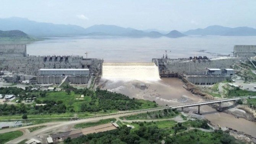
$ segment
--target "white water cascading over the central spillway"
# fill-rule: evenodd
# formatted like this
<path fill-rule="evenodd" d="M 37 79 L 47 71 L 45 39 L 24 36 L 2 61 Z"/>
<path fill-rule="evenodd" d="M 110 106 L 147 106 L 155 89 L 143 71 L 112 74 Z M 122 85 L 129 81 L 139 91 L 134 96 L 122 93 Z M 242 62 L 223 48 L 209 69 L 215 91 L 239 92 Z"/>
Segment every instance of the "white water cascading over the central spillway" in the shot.
<path fill-rule="evenodd" d="M 158 67 L 154 63 L 103 63 L 102 78 L 109 80 L 158 81 Z"/>

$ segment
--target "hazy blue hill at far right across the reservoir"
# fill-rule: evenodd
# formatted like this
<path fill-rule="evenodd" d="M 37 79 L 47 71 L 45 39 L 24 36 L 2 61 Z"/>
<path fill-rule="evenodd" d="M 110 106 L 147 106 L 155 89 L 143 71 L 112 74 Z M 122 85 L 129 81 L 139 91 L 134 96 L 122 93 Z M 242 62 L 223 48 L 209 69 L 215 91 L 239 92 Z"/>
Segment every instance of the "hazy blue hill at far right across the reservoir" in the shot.
<path fill-rule="evenodd" d="M 228 28 L 224 26 L 208 26 L 204 29 L 193 29 L 184 32 L 186 35 L 217 35 L 217 36 L 256 36 L 256 29 L 249 27 Z"/>

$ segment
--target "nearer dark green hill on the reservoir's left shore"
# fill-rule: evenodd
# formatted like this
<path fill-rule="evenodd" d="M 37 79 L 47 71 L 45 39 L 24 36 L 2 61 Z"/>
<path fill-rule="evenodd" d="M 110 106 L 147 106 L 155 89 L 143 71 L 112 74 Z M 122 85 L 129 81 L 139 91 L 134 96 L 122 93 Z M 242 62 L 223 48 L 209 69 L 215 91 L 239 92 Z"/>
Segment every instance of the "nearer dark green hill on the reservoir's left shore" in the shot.
<path fill-rule="evenodd" d="M 0 41 L 34 41 L 34 39 L 30 37 L 28 34 L 19 31 L 0 31 Z"/>

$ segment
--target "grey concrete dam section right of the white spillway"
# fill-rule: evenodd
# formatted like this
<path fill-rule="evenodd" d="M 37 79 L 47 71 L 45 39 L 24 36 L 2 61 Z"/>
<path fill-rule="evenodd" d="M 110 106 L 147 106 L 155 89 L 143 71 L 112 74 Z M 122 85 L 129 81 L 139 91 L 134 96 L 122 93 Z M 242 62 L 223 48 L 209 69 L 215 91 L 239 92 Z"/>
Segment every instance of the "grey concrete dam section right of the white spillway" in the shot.
<path fill-rule="evenodd" d="M 209 59 L 199 56 L 171 59 L 166 54 L 166 57 L 153 58 L 152 61 L 158 66 L 160 77 L 181 76 L 194 84 L 214 84 L 235 75 L 235 71 L 230 68 L 236 62 L 255 55 L 256 45 L 235 45 L 233 57 Z"/>

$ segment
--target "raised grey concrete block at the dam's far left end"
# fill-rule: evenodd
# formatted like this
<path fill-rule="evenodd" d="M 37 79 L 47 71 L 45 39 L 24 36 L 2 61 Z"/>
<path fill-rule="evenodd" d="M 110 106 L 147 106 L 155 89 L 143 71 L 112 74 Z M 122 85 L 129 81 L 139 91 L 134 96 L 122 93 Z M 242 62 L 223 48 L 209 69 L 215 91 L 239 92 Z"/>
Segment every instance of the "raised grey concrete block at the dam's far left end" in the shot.
<path fill-rule="evenodd" d="M 23 44 L 0 45 L 0 57 L 26 57 L 27 47 Z"/>

